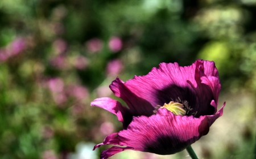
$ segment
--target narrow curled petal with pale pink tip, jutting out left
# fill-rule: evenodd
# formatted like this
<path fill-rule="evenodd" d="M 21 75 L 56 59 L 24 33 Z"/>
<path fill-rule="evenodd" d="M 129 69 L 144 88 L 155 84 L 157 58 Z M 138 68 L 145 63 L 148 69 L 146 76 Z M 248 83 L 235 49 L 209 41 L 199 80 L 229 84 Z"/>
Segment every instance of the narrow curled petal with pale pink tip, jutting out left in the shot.
<path fill-rule="evenodd" d="M 130 114 L 130 110 L 122 106 L 122 104 L 112 98 L 103 97 L 97 98 L 90 103 L 91 106 L 97 106 L 108 110 L 110 113 L 117 115 L 118 121 L 123 123 L 123 128 L 127 128 L 131 122 L 133 116 Z"/>

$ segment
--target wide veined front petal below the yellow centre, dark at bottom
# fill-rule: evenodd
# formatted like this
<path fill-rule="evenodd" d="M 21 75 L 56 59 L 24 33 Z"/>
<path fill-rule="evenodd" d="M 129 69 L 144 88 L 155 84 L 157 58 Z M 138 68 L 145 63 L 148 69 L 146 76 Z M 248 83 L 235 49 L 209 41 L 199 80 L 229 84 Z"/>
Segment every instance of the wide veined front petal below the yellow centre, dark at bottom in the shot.
<path fill-rule="evenodd" d="M 206 116 L 182 117 L 159 109 L 151 117 L 134 117 L 127 130 L 118 133 L 119 144 L 137 151 L 174 154 L 208 134 L 208 121 Z"/>

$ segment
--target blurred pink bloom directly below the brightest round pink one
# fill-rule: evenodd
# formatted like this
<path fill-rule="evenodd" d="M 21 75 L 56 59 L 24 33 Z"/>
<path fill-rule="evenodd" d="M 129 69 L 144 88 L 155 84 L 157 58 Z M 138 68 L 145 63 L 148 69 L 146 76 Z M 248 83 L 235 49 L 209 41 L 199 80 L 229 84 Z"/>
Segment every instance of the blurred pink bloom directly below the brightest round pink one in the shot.
<path fill-rule="evenodd" d="M 123 63 L 119 59 L 114 59 L 108 63 L 106 72 L 108 75 L 117 76 L 123 69 Z"/>

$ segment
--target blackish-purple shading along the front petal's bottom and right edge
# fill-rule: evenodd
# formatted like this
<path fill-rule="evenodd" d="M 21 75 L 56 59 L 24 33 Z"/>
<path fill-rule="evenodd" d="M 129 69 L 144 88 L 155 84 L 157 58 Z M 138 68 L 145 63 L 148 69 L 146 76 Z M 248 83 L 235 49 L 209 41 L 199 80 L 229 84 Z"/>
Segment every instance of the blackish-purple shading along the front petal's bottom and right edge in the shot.
<path fill-rule="evenodd" d="M 188 127 L 189 129 L 189 127 Z M 156 154 L 174 154 L 183 151 L 189 145 L 195 143 L 201 136 L 207 135 L 209 132 L 208 120 L 201 121 L 198 127 L 199 136 L 194 136 L 191 139 L 185 140 L 179 134 L 170 134 L 170 136 L 158 136 L 158 139 L 154 143 L 145 145 L 144 152 L 156 153 Z"/>

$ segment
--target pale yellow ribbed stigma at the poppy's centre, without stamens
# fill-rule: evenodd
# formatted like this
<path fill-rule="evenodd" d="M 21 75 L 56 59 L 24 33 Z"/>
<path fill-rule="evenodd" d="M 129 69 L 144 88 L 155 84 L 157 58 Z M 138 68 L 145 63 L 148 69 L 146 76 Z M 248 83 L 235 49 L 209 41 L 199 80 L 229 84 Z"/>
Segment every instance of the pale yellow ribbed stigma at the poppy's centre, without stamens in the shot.
<path fill-rule="evenodd" d="M 169 104 L 164 104 L 160 107 L 160 109 L 166 108 L 167 110 L 171 111 L 175 115 L 181 115 L 184 116 L 186 114 L 186 111 L 183 109 L 184 105 L 180 104 L 179 102 L 171 101 Z"/>

